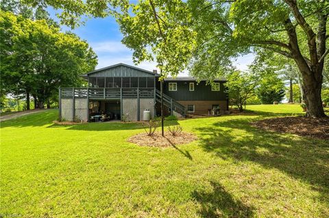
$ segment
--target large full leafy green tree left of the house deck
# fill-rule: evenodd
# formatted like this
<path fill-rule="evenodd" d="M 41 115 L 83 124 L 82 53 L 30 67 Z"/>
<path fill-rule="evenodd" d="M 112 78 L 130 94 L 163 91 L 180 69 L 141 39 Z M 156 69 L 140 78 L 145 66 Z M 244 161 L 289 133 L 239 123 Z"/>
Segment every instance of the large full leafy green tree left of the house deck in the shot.
<path fill-rule="evenodd" d="M 80 74 L 93 70 L 97 57 L 88 44 L 72 33 L 0 11 L 1 85 L 32 94 L 38 107 L 60 86 L 79 85 Z M 27 97 L 29 99 L 29 97 Z"/>

